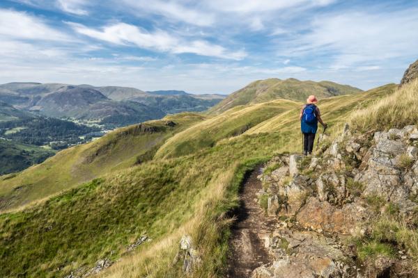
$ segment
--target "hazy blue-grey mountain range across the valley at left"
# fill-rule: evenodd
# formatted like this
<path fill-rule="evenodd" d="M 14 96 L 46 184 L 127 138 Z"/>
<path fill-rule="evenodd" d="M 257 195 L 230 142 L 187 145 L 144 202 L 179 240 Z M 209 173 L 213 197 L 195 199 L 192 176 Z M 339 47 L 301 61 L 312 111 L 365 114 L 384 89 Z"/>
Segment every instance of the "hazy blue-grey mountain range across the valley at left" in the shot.
<path fill-rule="evenodd" d="M 159 119 L 169 113 L 206 111 L 223 95 L 184 91 L 144 92 L 137 88 L 63 83 L 0 85 L 0 101 L 47 117 L 94 120 L 107 128 Z"/>

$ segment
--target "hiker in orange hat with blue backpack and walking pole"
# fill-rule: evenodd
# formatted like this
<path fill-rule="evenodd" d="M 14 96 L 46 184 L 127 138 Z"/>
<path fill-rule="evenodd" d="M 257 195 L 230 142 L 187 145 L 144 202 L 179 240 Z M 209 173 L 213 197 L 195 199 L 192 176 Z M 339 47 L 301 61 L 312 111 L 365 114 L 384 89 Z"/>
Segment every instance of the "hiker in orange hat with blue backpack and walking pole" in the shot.
<path fill-rule="evenodd" d="M 307 99 L 307 104 L 300 110 L 300 129 L 302 129 L 303 133 L 304 156 L 312 154 L 318 122 L 323 125 L 324 129 L 327 128 L 327 124 L 320 118 L 319 108 L 315 105 L 317 102 L 318 99 L 314 95 L 310 95 Z"/>

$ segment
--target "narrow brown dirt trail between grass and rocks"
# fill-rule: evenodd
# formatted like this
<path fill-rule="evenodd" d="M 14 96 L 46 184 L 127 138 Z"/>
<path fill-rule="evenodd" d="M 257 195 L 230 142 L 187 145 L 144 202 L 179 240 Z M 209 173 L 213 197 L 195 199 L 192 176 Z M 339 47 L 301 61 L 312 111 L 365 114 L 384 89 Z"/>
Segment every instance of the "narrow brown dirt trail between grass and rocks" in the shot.
<path fill-rule="evenodd" d="M 242 185 L 240 208 L 235 212 L 238 220 L 233 226 L 230 242 L 227 274 L 230 278 L 251 277 L 252 270 L 270 261 L 263 238 L 274 229 L 276 220 L 266 217 L 258 204 L 256 193 L 262 188 L 257 179 L 260 170 L 261 166 L 256 167 Z"/>

